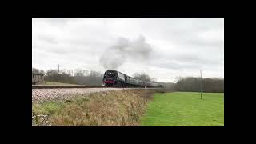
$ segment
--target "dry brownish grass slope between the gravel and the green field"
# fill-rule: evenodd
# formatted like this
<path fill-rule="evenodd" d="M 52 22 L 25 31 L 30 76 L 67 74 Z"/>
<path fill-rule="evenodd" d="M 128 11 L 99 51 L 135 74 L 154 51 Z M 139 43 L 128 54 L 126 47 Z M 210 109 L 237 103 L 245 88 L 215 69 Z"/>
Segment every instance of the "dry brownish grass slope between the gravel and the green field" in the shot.
<path fill-rule="evenodd" d="M 66 102 L 34 104 L 33 111 L 49 114 L 52 126 L 139 126 L 154 91 L 111 90 L 79 95 Z"/>

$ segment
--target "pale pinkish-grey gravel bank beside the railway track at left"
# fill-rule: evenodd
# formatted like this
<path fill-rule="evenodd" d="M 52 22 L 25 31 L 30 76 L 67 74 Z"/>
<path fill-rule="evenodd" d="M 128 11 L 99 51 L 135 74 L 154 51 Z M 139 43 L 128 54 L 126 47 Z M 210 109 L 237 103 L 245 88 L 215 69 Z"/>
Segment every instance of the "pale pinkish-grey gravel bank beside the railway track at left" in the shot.
<path fill-rule="evenodd" d="M 72 88 L 72 89 L 32 89 L 32 102 L 66 99 L 77 94 L 88 94 L 100 91 L 122 90 L 118 88 Z"/>

